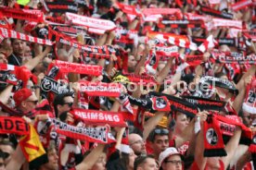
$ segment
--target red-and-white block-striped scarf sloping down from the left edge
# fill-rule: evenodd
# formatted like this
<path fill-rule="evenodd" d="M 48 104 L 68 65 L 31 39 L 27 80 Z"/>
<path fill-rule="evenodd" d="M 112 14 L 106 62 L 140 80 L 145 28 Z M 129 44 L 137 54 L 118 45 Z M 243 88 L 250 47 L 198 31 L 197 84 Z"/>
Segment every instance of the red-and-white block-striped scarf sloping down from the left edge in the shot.
<path fill-rule="evenodd" d="M 39 44 L 45 44 L 45 45 L 53 45 L 53 42 L 49 40 L 40 39 L 37 37 L 32 37 L 31 35 L 26 35 L 24 33 L 20 33 L 15 30 L 8 30 L 5 28 L 0 28 L 0 35 L 4 38 L 13 38 L 13 39 L 19 39 L 26 42 L 34 42 Z"/>

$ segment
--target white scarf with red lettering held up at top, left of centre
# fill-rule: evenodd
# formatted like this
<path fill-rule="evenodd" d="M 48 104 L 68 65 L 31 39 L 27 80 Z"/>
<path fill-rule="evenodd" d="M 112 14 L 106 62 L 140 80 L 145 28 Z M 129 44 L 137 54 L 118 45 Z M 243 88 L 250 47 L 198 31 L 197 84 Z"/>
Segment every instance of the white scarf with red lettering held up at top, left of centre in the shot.
<path fill-rule="evenodd" d="M 86 27 L 91 33 L 104 34 L 107 30 L 109 31 L 116 29 L 115 23 L 106 19 L 88 18 L 69 12 L 66 13 L 66 17 L 70 23 Z"/>

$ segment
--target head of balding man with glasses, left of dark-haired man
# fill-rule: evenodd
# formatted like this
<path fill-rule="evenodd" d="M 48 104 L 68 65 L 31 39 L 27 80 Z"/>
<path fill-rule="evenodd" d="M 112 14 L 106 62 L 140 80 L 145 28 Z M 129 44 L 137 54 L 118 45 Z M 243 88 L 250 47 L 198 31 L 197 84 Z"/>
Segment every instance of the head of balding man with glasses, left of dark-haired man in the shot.
<path fill-rule="evenodd" d="M 129 135 L 129 145 L 137 156 L 146 152 L 145 142 L 138 134 L 132 133 Z"/>

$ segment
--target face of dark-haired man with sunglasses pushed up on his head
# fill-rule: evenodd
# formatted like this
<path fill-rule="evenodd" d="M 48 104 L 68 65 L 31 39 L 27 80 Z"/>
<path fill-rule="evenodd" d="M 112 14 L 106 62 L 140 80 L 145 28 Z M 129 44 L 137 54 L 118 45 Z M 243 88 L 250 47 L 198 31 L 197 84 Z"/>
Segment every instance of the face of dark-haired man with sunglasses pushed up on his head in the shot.
<path fill-rule="evenodd" d="M 160 152 L 163 152 L 169 146 L 168 135 L 156 135 L 154 142 L 152 142 L 151 147 L 154 154 L 158 157 Z"/>

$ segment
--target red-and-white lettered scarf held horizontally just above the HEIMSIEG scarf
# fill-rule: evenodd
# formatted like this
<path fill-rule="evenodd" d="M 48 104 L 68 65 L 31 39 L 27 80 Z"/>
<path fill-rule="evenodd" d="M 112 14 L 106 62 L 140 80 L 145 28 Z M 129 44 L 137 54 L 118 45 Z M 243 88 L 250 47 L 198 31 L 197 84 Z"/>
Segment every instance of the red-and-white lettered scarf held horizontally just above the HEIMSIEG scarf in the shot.
<path fill-rule="evenodd" d="M 108 96 L 119 97 L 121 94 L 122 84 L 79 81 L 80 91 L 85 92 L 88 96 Z"/>

